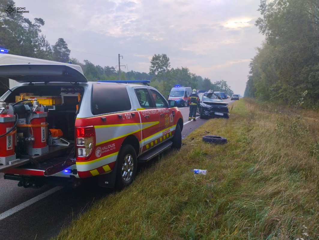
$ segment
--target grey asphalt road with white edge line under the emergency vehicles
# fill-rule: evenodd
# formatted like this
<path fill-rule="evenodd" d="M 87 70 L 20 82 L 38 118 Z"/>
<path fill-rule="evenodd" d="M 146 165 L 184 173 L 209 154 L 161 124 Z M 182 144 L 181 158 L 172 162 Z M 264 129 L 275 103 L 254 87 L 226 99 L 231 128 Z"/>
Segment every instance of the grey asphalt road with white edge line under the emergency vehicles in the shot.
<path fill-rule="evenodd" d="M 198 116 L 197 121 L 188 121 L 189 108 L 180 110 L 184 118 L 184 138 L 206 120 Z M 94 201 L 112 192 L 91 181 L 76 189 L 49 185 L 39 189 L 23 188 L 17 186 L 17 181 L 5 180 L 3 175 L 0 173 L 0 239 L 50 239 Z"/>

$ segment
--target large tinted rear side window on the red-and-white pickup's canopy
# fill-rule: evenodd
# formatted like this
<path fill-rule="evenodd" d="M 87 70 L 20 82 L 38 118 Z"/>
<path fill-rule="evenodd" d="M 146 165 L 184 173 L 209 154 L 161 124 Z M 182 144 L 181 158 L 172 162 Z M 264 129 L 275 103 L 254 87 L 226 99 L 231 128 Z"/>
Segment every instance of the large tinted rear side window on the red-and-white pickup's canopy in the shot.
<path fill-rule="evenodd" d="M 104 114 L 131 109 L 129 94 L 122 84 L 93 84 L 92 113 Z"/>

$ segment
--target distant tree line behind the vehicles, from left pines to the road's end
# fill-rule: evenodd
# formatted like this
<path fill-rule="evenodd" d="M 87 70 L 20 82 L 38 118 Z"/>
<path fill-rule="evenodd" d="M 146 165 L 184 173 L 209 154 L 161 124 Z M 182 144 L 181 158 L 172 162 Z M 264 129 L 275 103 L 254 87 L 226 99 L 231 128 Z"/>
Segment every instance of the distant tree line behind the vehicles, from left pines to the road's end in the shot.
<path fill-rule="evenodd" d="M 15 5 L 12 0 L 0 0 L 0 47 L 10 50 L 10 54 L 46 59 L 57 62 L 69 62 L 82 67 L 83 73 L 89 81 L 117 80 L 118 70 L 113 66 L 94 65 L 89 60 L 80 62 L 70 58 L 70 49 L 63 38 L 58 38 L 54 45 L 50 45 L 46 36 L 41 33 L 45 24 L 42 18 L 33 21 L 24 18 L 22 13 L 8 16 L 4 13 L 7 5 Z M 166 54 L 152 57 L 149 73 L 138 71 L 121 71 L 122 80 L 150 80 L 151 86 L 156 87 L 164 96 L 167 96 L 174 85 L 190 86 L 191 88 L 224 91 L 231 95 L 233 91 L 226 81 L 216 81 L 214 84 L 209 78 L 191 73 L 187 67 L 170 68 Z"/>

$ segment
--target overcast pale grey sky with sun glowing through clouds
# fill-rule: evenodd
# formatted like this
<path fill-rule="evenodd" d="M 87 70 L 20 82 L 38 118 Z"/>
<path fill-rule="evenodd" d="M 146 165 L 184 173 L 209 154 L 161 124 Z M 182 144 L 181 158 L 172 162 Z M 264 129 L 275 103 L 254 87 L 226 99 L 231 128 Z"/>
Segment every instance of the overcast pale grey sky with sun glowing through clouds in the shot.
<path fill-rule="evenodd" d="M 30 20 L 43 18 L 51 45 L 63 38 L 81 62 L 115 66 L 120 53 L 121 65 L 148 72 L 152 55 L 165 53 L 171 67 L 188 67 L 212 82 L 224 79 L 239 94 L 264 39 L 254 25 L 259 0 L 15 2 Z"/>

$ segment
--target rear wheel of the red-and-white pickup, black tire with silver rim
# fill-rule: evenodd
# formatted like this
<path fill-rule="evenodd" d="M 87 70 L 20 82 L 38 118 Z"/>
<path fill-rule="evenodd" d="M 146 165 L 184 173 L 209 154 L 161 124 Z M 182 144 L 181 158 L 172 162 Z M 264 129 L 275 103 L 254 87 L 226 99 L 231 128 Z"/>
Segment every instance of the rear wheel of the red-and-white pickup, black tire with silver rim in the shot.
<path fill-rule="evenodd" d="M 127 157 L 132 161 L 132 165 L 127 164 Z M 131 166 L 131 170 L 130 170 Z M 130 171 L 129 171 L 130 170 Z M 123 145 L 120 153 L 117 156 L 117 169 L 116 169 L 116 181 L 115 186 L 117 189 L 122 189 L 130 185 L 137 171 L 137 157 L 135 149 L 130 144 Z M 130 174 L 131 172 L 131 174 Z M 125 174 L 126 173 L 126 174 Z M 129 174 L 129 176 L 127 176 Z"/>

